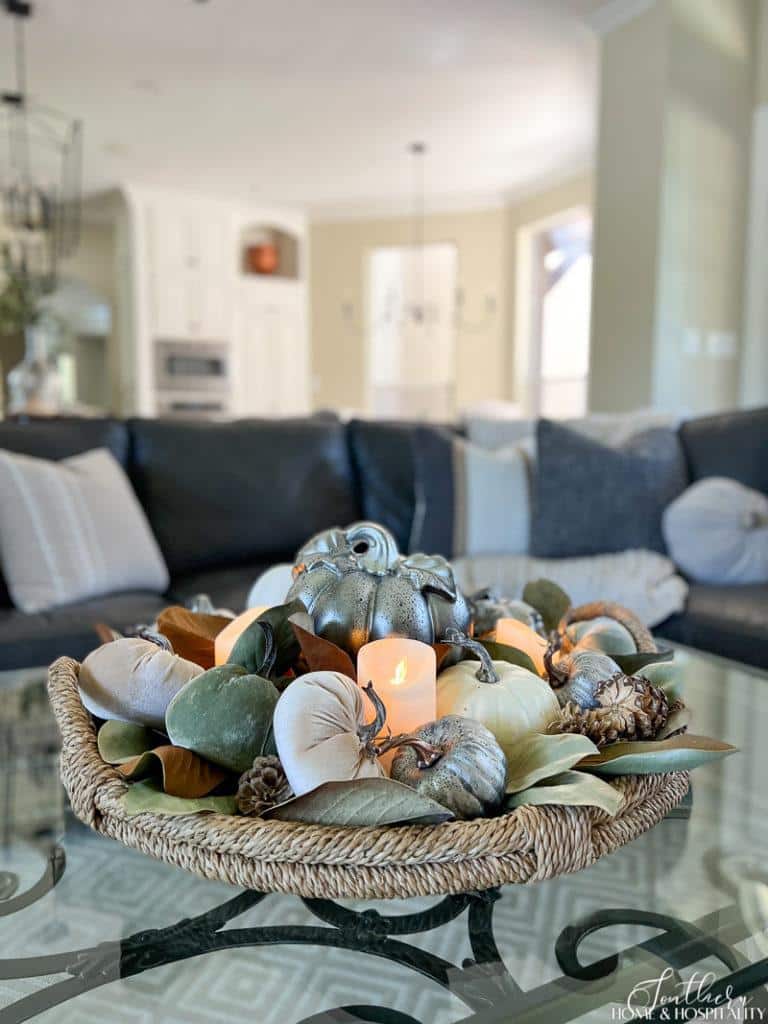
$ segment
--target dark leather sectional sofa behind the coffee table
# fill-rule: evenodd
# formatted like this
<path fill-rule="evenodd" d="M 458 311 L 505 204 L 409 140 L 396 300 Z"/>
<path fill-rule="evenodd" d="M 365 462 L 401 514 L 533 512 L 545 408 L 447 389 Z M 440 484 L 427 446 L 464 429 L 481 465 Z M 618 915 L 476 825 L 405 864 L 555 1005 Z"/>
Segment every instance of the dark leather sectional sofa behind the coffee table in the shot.
<path fill-rule="evenodd" d="M 331 415 L 179 423 L 0 423 L 0 449 L 62 459 L 105 446 L 130 476 L 171 574 L 166 595 L 115 594 L 37 614 L 13 608 L 0 577 L 0 671 L 82 657 L 94 623 L 151 622 L 169 602 L 207 593 L 240 609 L 256 577 L 291 561 L 312 532 L 355 518 L 383 522 L 407 550 L 414 512 L 413 426 Z M 691 480 L 735 477 L 768 494 L 768 410 L 692 420 L 680 430 Z M 692 586 L 658 632 L 768 668 L 768 586 Z"/>

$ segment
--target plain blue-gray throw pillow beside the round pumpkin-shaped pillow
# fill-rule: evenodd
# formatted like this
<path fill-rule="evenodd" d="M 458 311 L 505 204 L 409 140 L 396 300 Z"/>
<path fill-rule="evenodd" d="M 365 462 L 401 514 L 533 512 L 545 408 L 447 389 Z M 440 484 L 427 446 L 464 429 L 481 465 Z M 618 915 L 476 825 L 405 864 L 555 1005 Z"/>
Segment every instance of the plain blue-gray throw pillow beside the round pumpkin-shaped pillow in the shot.
<path fill-rule="evenodd" d="M 599 555 L 666 551 L 664 510 L 685 489 L 676 431 L 658 428 L 609 447 L 551 420 L 537 427 L 531 554 Z"/>

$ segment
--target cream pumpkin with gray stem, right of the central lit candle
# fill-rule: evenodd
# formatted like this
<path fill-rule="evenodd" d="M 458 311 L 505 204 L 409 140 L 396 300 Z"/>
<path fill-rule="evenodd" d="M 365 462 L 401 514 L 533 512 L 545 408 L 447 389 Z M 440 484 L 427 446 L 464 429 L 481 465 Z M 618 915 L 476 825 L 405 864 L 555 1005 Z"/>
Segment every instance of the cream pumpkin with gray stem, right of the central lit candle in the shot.
<path fill-rule="evenodd" d="M 495 681 L 486 681 L 493 667 Z M 437 679 L 437 716 L 461 715 L 481 722 L 505 754 L 529 732 L 546 732 L 560 713 L 544 679 L 508 662 L 460 662 Z"/>

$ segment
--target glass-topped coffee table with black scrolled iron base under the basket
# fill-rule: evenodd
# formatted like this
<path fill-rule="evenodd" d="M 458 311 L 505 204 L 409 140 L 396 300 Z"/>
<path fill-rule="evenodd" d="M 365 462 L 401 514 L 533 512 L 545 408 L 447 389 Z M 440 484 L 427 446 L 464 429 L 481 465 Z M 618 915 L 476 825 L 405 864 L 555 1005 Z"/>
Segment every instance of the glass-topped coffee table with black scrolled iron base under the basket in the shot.
<path fill-rule="evenodd" d="M 238 891 L 89 831 L 44 671 L 0 675 L 0 1024 L 768 1020 L 768 676 L 677 657 L 693 731 L 741 753 L 655 828 L 553 881 L 368 903 Z"/>

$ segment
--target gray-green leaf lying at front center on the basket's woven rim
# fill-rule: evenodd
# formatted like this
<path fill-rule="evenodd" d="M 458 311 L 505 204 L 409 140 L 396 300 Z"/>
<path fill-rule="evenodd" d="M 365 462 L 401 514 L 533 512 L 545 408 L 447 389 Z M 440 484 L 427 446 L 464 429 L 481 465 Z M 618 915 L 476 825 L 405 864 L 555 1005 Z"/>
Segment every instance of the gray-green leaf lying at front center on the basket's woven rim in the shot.
<path fill-rule="evenodd" d="M 324 782 L 316 790 L 270 807 L 265 818 L 317 825 L 437 824 L 453 814 L 442 804 L 391 778 Z"/>

